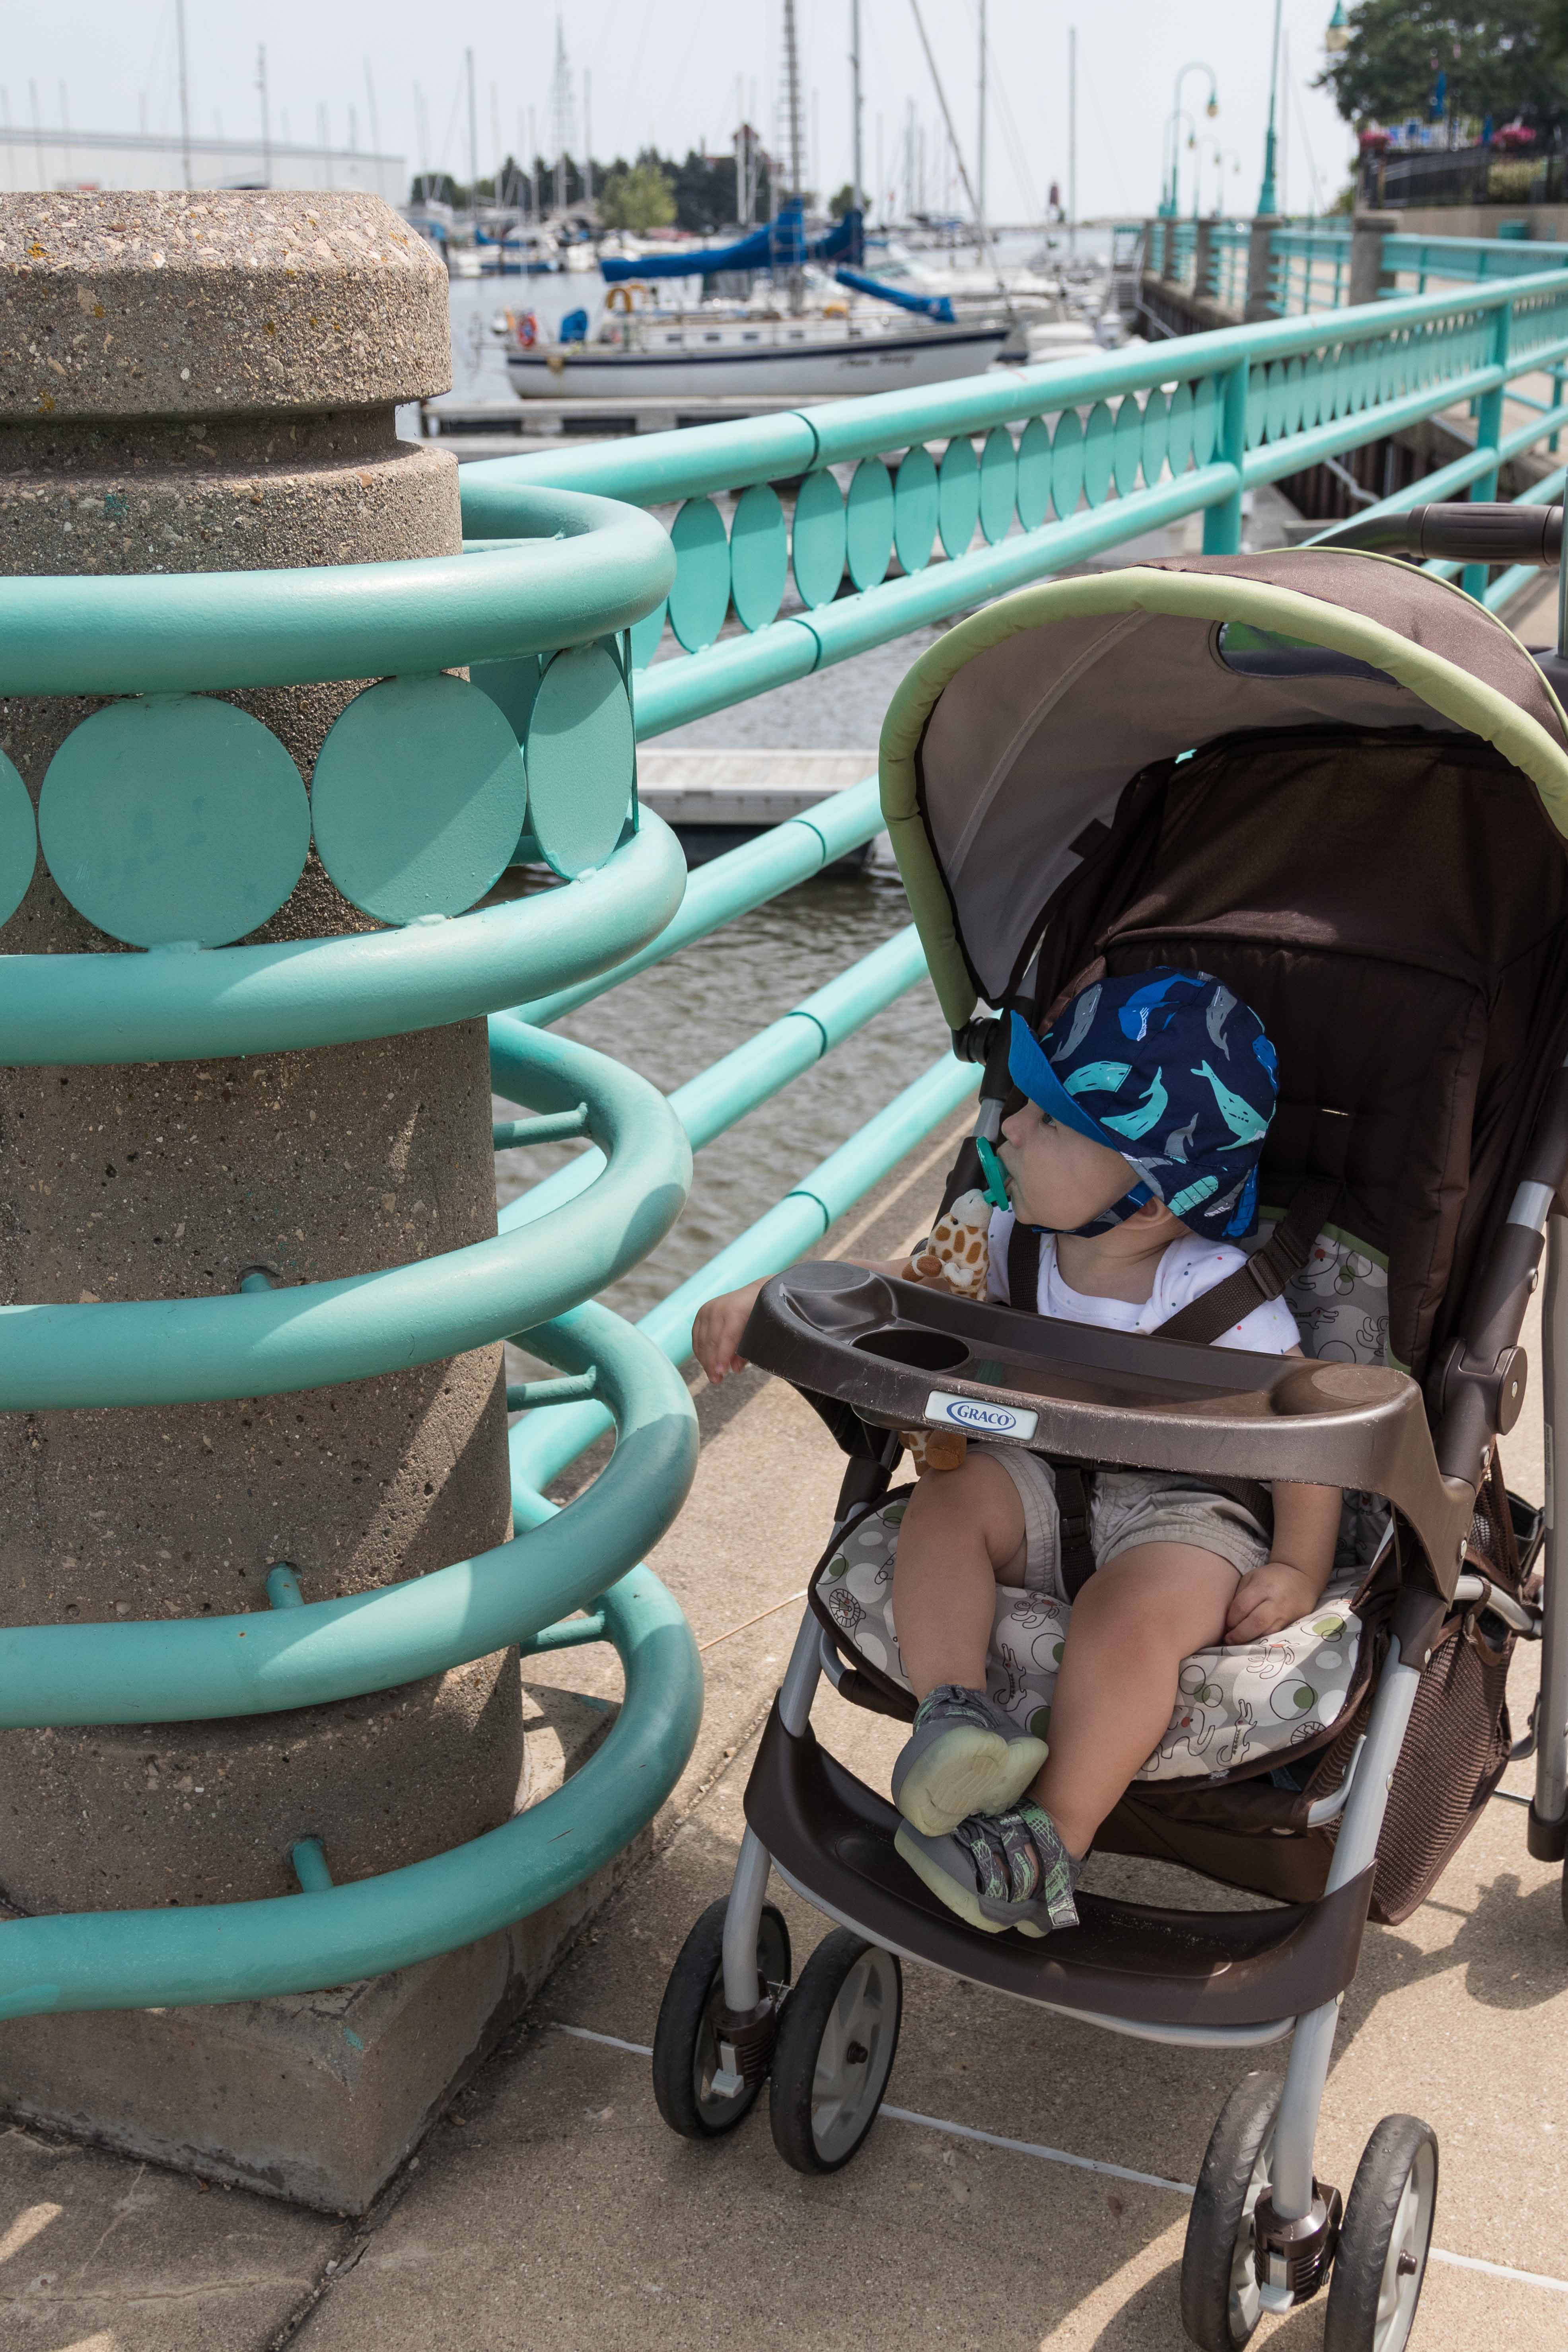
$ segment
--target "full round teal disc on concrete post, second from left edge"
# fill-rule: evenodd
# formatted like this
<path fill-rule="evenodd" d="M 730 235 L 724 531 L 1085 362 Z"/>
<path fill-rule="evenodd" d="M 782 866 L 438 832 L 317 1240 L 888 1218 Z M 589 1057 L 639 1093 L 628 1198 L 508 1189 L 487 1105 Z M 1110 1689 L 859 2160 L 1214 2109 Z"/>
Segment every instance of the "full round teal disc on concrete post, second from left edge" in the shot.
<path fill-rule="evenodd" d="M 310 802 L 249 710 L 155 694 L 108 703 L 66 736 L 38 795 L 38 837 L 99 931 L 132 948 L 221 948 L 299 882 Z"/>

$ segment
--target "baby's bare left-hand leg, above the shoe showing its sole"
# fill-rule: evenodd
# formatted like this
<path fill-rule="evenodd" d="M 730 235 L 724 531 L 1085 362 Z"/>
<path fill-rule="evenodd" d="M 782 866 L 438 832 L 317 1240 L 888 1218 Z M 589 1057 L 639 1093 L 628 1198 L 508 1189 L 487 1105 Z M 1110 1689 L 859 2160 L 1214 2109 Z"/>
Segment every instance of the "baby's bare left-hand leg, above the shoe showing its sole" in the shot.
<path fill-rule="evenodd" d="M 1023 1503 L 1001 1463 L 971 1446 L 959 1470 L 926 1470 L 893 1559 L 893 1625 L 917 1698 L 943 1682 L 985 1689 L 997 1578 L 1013 1564 L 1023 1573 Z"/>

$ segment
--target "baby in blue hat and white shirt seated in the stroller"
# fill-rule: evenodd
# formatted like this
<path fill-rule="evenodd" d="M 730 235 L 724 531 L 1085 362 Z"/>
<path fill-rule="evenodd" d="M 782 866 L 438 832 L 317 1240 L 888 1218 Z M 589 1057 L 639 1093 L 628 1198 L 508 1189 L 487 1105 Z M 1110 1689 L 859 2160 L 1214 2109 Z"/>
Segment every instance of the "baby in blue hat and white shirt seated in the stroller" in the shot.
<path fill-rule="evenodd" d="M 990 1221 L 992 1298 L 1006 1298 L 1016 1218 L 1041 1228 L 1037 1305 L 1063 1322 L 1154 1331 L 1244 1263 L 1232 1237 L 1255 1223 L 1274 1049 L 1220 981 L 1105 978 L 1039 1040 L 1013 1014 L 1009 1070 L 1025 1103 L 1001 1122 L 1011 1209 Z M 759 1289 L 701 1310 L 693 1352 L 710 1381 L 741 1367 Z M 1279 1298 L 1215 1345 L 1300 1355 Z M 1197 1477 L 1093 1475 L 1095 1571 L 1072 1599 L 1046 1750 L 987 1696 L 985 1656 L 997 1583 L 1070 1597 L 1051 1470 L 1023 1446 L 971 1444 L 961 1468 L 922 1477 L 893 1564 L 919 1698 L 893 1764 L 896 1844 L 950 1910 L 992 1933 L 1077 1924 L 1079 1865 L 1159 1745 L 1182 1658 L 1291 1625 L 1328 1583 L 1338 1489 L 1276 1479 L 1272 1522 Z"/>

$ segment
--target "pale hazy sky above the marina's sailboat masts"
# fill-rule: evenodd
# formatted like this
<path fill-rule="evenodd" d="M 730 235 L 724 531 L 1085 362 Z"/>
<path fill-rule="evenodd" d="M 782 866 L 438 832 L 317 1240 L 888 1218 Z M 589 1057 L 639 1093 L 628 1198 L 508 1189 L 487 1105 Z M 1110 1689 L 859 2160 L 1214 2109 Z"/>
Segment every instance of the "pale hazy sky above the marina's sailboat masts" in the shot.
<path fill-rule="evenodd" d="M 1326 92 L 1324 26 L 1333 0 L 1281 0 L 1281 209 L 1328 205 L 1349 179 L 1352 139 Z M 919 0 L 964 162 L 976 174 L 980 0 Z M 1067 195 L 1067 28 L 1077 24 L 1079 216 L 1152 212 L 1166 125 L 1175 103 L 1204 141 L 1204 209 L 1258 202 L 1269 85 L 1272 0 L 987 0 L 990 132 L 985 209 L 992 221 L 1034 221 L 1051 181 Z M 33 87 L 45 127 L 179 125 L 174 0 L 52 0 L 7 12 L 0 94 L 14 125 L 31 122 Z M 595 155 L 654 143 L 665 153 L 729 148 L 745 113 L 764 143 L 783 146 L 780 0 L 571 0 L 562 9 L 571 73 L 574 146 L 588 96 Z M 912 0 L 860 0 L 865 183 L 907 183 L 907 125 L 924 153 L 929 207 L 964 207 Z M 449 26 L 449 35 L 433 28 Z M 806 179 L 825 191 L 849 179 L 849 0 L 797 0 Z M 186 0 L 190 127 L 256 136 L 256 47 L 266 42 L 273 136 L 315 143 L 327 108 L 334 146 L 371 143 L 468 176 L 463 45 L 473 42 L 480 172 L 501 148 L 520 153 L 527 115 L 552 153 L 557 9 L 545 0 L 465 0 L 449 19 L 428 0 Z M 1288 54 L 1288 73 L 1286 73 Z M 1213 68 L 1218 115 L 1204 113 Z M 353 111 L 353 122 L 350 122 Z M 371 139 L 374 125 L 374 139 Z M 1192 162 L 1182 125 L 1182 212 Z M 882 179 L 877 158 L 882 155 Z"/>

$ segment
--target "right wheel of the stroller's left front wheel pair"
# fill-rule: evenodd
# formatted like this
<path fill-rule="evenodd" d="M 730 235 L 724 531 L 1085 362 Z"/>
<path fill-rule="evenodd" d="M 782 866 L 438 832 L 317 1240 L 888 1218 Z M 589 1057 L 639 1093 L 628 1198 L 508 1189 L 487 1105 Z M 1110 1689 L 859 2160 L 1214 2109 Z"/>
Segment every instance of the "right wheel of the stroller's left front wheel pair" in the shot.
<path fill-rule="evenodd" d="M 773 2044 L 773 2147 L 797 2173 L 837 2173 L 877 2122 L 893 2072 L 903 1971 L 837 1926 L 799 1971 Z"/>

